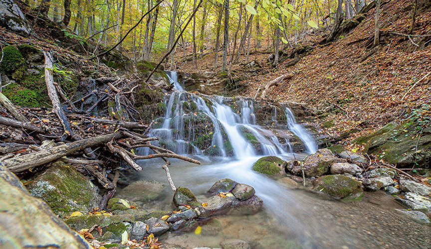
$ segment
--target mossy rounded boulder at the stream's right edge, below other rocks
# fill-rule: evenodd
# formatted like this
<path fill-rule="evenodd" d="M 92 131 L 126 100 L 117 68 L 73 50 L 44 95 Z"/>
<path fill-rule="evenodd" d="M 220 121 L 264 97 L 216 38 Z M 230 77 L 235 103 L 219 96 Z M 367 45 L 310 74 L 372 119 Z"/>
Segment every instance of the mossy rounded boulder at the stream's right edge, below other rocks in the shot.
<path fill-rule="evenodd" d="M 361 183 L 344 175 L 325 175 L 312 181 L 313 190 L 335 199 L 357 199 L 364 194 Z"/>

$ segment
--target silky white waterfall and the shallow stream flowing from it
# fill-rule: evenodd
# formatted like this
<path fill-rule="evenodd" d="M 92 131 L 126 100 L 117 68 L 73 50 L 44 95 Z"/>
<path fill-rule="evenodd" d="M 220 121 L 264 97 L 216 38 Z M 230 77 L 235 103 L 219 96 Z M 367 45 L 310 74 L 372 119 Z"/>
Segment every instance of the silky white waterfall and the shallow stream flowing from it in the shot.
<path fill-rule="evenodd" d="M 292 112 L 284 107 L 286 125 L 304 143 L 302 153 L 292 153 L 289 141 L 281 141 L 272 130 L 256 123 L 253 103 L 244 99 L 240 112 L 235 113 L 221 96 L 206 96 L 185 92 L 175 71 L 168 71 L 175 89 L 166 97 L 166 115 L 160 125 L 150 131 L 159 136 L 176 153 L 186 154 L 202 162 L 195 165 L 173 159 L 170 171 L 177 187 L 187 187 L 198 198 L 217 181 L 230 178 L 256 190 L 263 210 L 253 215 L 226 214 L 208 219 L 202 233 L 168 232 L 160 237 L 168 248 L 219 248 L 227 239 L 240 239 L 252 248 L 427 248 L 430 227 L 415 223 L 395 211 L 403 208 L 383 191 L 365 192 L 360 201 L 341 202 L 311 193 L 302 183 L 289 176 L 271 179 L 251 170 L 253 163 L 264 155 L 276 155 L 283 160 L 302 159 L 317 150 L 311 134 L 297 124 Z M 210 100 L 211 104 L 208 103 Z M 203 134 L 195 133 L 188 118 L 187 105 L 195 103 L 195 117 L 205 116 L 205 128 L 211 125 L 208 148 L 196 144 Z M 193 105 L 194 106 L 194 105 Z M 191 107 L 193 107 L 191 105 Z M 185 108 L 185 109 L 184 109 Z M 192 117 L 193 117 L 192 116 Z M 276 115 L 275 115 L 276 116 Z M 245 128 L 259 141 L 256 146 L 244 137 Z M 227 142 L 228 141 L 228 142 Z M 157 143 L 157 141 L 155 141 Z M 155 144 L 156 144 L 155 143 Z M 212 154 L 207 153 L 211 149 Z M 148 148 L 138 150 L 148 154 Z M 143 171 L 139 179 L 156 180 L 167 185 L 160 158 L 138 161 Z M 174 210 L 173 193 L 169 187 L 156 201 L 144 204 L 148 210 Z"/>

